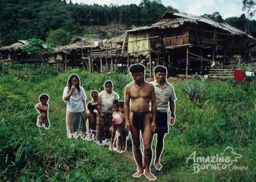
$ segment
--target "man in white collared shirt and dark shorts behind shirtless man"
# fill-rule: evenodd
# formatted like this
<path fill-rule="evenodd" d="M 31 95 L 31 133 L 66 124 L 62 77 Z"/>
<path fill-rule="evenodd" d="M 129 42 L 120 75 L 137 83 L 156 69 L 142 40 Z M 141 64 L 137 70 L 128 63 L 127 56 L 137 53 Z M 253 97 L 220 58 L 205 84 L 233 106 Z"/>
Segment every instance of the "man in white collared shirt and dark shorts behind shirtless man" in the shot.
<path fill-rule="evenodd" d="M 175 121 L 175 100 L 176 94 L 173 89 L 173 85 L 166 81 L 167 69 L 164 66 L 157 66 L 154 68 L 154 81 L 150 82 L 154 85 L 154 91 L 157 101 L 157 116 L 156 124 L 157 129 L 153 132 L 157 134 L 157 146 L 156 157 L 154 166 L 157 170 L 161 170 L 162 165 L 159 163 L 159 159 L 164 147 L 165 133 L 168 133 L 168 106 L 170 106 L 170 124 L 174 124 Z M 170 103 L 170 105 L 168 105 Z M 151 109 L 151 106 L 149 107 Z"/>

